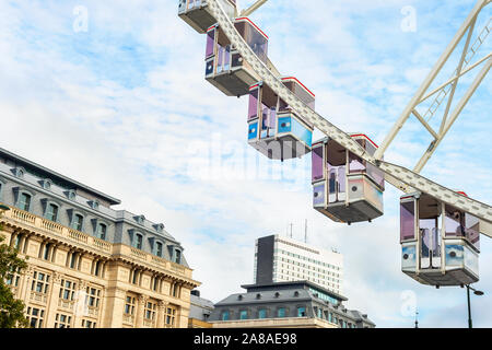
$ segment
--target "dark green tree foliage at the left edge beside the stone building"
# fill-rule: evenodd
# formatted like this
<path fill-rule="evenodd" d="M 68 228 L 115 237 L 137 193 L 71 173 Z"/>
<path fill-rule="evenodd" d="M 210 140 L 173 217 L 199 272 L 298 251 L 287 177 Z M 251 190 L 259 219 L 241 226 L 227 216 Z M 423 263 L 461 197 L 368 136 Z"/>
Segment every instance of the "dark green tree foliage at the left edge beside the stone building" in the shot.
<path fill-rule="evenodd" d="M 20 273 L 25 269 L 27 264 L 17 257 L 17 249 L 3 244 L 4 240 L 0 233 L 0 328 L 28 327 L 24 316 L 24 303 L 14 298 L 5 282 L 13 278 L 13 272 Z"/>

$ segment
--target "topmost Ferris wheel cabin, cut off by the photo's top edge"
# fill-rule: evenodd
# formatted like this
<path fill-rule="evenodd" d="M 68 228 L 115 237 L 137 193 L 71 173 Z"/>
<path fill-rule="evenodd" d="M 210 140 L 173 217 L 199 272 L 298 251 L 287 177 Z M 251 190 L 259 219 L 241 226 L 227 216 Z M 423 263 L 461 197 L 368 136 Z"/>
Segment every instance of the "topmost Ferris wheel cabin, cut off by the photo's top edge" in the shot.
<path fill-rule="evenodd" d="M 219 2 L 229 18 L 236 16 L 235 0 L 219 0 Z M 178 15 L 200 34 L 207 33 L 207 30 L 216 23 L 207 0 L 179 0 Z"/>

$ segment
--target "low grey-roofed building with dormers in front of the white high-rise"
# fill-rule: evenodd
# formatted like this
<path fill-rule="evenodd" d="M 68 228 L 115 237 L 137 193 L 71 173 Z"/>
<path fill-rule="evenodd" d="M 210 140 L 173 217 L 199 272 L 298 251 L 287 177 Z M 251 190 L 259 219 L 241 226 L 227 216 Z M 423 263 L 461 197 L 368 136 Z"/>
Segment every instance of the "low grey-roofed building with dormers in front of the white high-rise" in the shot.
<path fill-rule="evenodd" d="M 309 281 L 243 285 L 215 304 L 214 328 L 374 328 L 367 315 L 344 307 L 345 298 Z"/>

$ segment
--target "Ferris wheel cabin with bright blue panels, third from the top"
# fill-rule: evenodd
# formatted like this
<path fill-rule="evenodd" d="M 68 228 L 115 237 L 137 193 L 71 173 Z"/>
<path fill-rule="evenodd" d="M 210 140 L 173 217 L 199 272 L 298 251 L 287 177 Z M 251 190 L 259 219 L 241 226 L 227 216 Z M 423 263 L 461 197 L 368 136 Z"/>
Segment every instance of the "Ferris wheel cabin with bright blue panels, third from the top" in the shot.
<path fill-rule="evenodd" d="M 313 110 L 315 95 L 297 79 L 281 79 Z M 311 152 L 313 126 L 297 115 L 267 84 L 249 88 L 248 143 L 273 160 L 301 158 Z"/>

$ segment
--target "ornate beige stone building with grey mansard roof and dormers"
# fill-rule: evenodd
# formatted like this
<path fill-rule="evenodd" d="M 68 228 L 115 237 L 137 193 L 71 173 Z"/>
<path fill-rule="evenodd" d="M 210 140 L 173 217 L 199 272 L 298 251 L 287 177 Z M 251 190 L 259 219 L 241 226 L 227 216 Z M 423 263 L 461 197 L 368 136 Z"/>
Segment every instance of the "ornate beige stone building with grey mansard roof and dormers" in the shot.
<path fill-rule="evenodd" d="M 27 261 L 7 283 L 32 327 L 188 326 L 183 246 L 116 198 L 0 149 L 2 234 Z"/>

